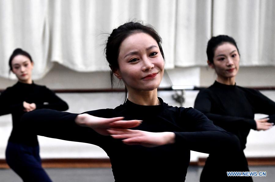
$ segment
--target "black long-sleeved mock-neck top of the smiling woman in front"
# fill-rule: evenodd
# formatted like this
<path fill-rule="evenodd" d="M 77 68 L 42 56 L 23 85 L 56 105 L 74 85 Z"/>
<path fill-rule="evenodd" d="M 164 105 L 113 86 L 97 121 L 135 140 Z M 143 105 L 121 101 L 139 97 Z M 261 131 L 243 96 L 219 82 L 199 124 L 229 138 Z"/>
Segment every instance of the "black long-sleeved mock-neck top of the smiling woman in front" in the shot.
<path fill-rule="evenodd" d="M 215 153 L 240 150 L 237 137 L 215 126 L 193 108 L 172 107 L 164 103 L 143 106 L 129 100 L 115 109 L 87 111 L 103 118 L 125 117 L 143 120 L 132 128 L 149 132 L 174 132 L 175 144 L 158 147 L 126 145 L 119 139 L 103 136 L 93 129 L 75 124 L 78 114 L 48 109 L 23 115 L 21 123 L 37 135 L 85 142 L 101 147 L 109 156 L 115 181 L 185 181 L 190 150 Z"/>

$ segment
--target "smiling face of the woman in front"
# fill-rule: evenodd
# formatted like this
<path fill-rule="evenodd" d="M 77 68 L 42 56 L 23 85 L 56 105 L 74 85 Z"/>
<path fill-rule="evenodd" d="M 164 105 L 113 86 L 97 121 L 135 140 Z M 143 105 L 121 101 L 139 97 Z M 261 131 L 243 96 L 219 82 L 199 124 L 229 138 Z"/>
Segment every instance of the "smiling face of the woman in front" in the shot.
<path fill-rule="evenodd" d="M 161 82 L 164 60 L 154 38 L 146 33 L 127 37 L 119 47 L 119 69 L 114 71 L 123 79 L 127 89 L 154 90 Z"/>

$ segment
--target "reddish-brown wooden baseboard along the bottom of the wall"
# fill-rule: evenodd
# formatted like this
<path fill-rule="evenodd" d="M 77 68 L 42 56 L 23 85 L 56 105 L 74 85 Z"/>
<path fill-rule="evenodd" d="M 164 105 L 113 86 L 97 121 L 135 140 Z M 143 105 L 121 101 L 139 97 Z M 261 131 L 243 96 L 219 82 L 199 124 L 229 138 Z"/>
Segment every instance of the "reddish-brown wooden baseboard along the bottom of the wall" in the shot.
<path fill-rule="evenodd" d="M 275 157 L 249 157 L 249 166 L 275 166 Z M 206 158 L 199 158 L 197 162 L 190 162 L 190 166 L 204 166 Z M 42 166 L 45 168 L 109 168 L 110 159 L 93 158 L 56 158 L 42 159 Z M 5 159 L 0 159 L 0 169 L 9 168 Z"/>

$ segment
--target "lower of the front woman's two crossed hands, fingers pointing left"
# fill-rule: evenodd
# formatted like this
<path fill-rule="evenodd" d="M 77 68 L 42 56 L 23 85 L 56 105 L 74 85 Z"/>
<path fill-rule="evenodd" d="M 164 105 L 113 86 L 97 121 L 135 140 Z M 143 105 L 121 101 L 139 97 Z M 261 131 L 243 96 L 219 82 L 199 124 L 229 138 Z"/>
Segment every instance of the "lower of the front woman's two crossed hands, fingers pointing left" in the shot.
<path fill-rule="evenodd" d="M 113 138 L 124 139 L 124 144 L 142 145 L 144 147 L 156 147 L 175 143 L 175 134 L 173 132 L 147 132 L 132 129 L 108 129 Z"/>

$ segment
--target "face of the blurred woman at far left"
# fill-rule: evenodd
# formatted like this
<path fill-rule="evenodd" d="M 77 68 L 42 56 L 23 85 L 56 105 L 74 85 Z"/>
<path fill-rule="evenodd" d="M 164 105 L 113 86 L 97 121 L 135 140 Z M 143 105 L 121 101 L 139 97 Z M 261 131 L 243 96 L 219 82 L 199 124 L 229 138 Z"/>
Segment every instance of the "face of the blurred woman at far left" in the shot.
<path fill-rule="evenodd" d="M 23 83 L 31 82 L 31 71 L 33 63 L 24 55 L 17 55 L 12 60 L 12 72 L 16 75 L 18 80 Z"/>

